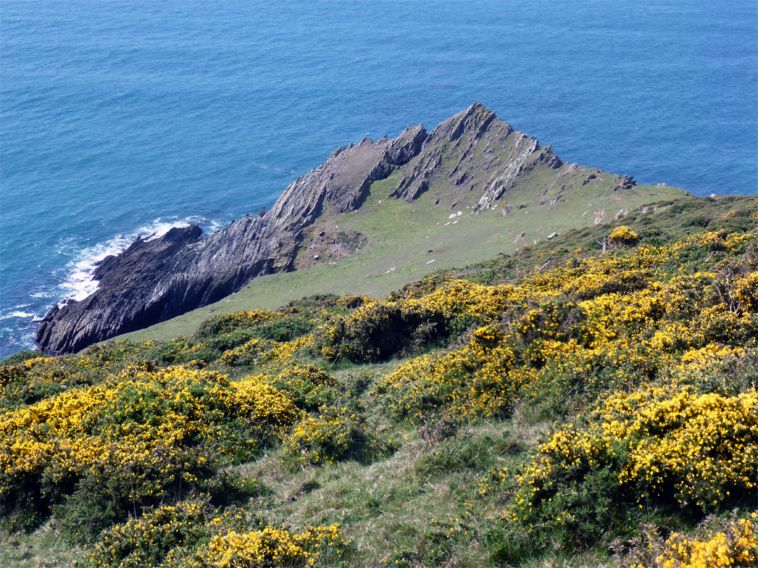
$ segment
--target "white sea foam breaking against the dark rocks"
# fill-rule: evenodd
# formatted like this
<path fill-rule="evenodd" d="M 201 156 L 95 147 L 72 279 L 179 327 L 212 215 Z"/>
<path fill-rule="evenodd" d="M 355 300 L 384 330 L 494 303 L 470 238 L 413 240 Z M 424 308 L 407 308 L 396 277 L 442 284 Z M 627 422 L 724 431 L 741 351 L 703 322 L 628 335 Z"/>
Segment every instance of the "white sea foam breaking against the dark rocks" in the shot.
<path fill-rule="evenodd" d="M 205 233 L 214 233 L 221 226 L 224 226 L 221 221 L 208 221 L 202 217 L 161 218 L 141 226 L 131 233 L 121 233 L 114 236 L 113 239 L 77 251 L 74 253 L 74 260 L 66 266 L 66 276 L 64 276 L 63 282 L 58 285 L 59 305 L 69 299 L 81 301 L 96 291 L 99 281 L 92 279 L 92 273 L 97 264 L 105 257 L 126 250 L 136 239 L 142 238 L 147 241 L 158 239 L 158 237 L 168 233 L 172 227 L 185 227 L 191 224 L 202 226 Z"/>

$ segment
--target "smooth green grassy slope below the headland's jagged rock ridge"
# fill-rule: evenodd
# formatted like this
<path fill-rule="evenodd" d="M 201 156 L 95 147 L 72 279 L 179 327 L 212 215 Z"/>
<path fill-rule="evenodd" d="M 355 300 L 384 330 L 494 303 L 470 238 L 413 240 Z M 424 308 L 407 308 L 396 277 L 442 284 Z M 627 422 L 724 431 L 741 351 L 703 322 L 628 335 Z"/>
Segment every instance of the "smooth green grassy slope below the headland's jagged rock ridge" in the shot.
<path fill-rule="evenodd" d="M 550 171 L 534 172 L 531 181 L 551 175 Z M 598 217 L 606 223 L 616 214 L 634 210 L 641 204 L 688 195 L 681 189 L 668 186 L 636 186 L 622 195 L 609 192 L 607 181 L 594 179 L 586 186 L 566 192 L 557 204 L 538 207 L 534 204 L 539 203 L 539 196 L 530 192 L 529 181 L 525 180 L 525 187 L 519 189 L 517 195 L 509 196 L 517 201 L 514 209 L 503 217 L 501 208 L 472 214 L 477 192 L 471 192 L 469 201 L 459 203 L 453 209 L 441 203 L 435 205 L 433 190 L 412 204 L 388 199 L 388 189 L 397 183 L 396 175 L 390 176 L 371 186 L 371 195 L 359 211 L 318 220 L 306 229 L 309 233 L 318 233 L 327 226 L 330 229 L 338 226 L 340 230 L 364 233 L 369 242 L 359 253 L 337 264 L 262 276 L 215 304 L 121 335 L 118 339 L 163 341 L 191 335 L 200 323 L 213 315 L 253 308 L 273 309 L 293 298 L 313 294 L 333 292 L 384 298 L 390 291 L 434 270 L 463 267 L 496 254 L 510 254 L 546 239 L 552 233 L 594 226 Z M 518 209 L 522 203 L 531 205 Z M 460 217 L 449 219 L 450 214 L 458 211 L 462 212 Z M 521 233 L 525 233 L 522 239 L 518 238 Z"/>

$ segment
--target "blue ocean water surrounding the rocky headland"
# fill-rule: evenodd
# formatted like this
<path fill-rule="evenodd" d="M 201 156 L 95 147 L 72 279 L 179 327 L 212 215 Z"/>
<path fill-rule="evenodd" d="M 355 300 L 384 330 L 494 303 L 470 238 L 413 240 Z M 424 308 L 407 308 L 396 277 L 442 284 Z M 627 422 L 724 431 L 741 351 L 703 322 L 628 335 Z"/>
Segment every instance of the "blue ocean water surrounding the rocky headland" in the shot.
<path fill-rule="evenodd" d="M 477 100 L 567 161 L 755 193 L 758 5 L 0 1 L 0 357 L 136 236 Z"/>

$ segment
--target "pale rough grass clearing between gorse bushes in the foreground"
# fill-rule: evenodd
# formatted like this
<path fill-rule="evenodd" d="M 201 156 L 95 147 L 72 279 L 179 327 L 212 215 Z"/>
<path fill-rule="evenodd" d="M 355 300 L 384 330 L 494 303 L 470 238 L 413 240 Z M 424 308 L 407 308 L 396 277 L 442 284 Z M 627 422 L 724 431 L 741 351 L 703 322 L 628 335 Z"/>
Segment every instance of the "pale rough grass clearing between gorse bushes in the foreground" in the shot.
<path fill-rule="evenodd" d="M 497 526 L 499 509 L 472 480 L 484 479 L 508 459 L 523 459 L 512 449 L 531 448 L 546 429 L 485 423 L 440 441 L 406 426 L 396 432 L 402 438 L 399 451 L 370 465 L 349 461 L 293 475 L 274 454 L 240 467 L 240 473 L 268 488 L 251 506 L 265 510 L 269 522 L 340 523 L 356 557 L 371 560 L 367 566 L 394 565 L 403 558 L 413 565 L 491 566 L 483 537 Z"/>

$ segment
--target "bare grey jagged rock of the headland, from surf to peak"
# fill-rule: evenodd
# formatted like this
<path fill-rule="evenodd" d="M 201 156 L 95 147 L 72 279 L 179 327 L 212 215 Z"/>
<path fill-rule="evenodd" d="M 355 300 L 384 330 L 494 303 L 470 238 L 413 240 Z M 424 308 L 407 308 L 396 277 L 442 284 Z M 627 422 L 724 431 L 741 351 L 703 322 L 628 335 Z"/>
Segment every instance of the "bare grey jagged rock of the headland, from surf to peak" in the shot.
<path fill-rule="evenodd" d="M 534 175 L 545 171 L 550 175 Z M 481 210 L 525 183 L 539 189 L 541 204 L 555 203 L 567 187 L 587 183 L 599 171 L 565 164 L 550 147 L 540 147 L 476 103 L 431 133 L 419 125 L 393 140 L 364 139 L 337 148 L 291 183 L 262 217 L 243 217 L 205 238 L 199 227 L 189 226 L 138 239 L 102 261 L 96 292 L 53 307 L 36 341 L 45 353 L 80 351 L 211 304 L 256 276 L 293 270 L 305 226 L 360 208 L 371 183 L 393 173 L 399 181 L 387 197 L 411 202 L 434 191 L 455 202 L 475 192 Z M 613 189 L 632 184 L 631 178 L 613 177 Z"/>

